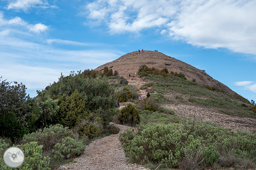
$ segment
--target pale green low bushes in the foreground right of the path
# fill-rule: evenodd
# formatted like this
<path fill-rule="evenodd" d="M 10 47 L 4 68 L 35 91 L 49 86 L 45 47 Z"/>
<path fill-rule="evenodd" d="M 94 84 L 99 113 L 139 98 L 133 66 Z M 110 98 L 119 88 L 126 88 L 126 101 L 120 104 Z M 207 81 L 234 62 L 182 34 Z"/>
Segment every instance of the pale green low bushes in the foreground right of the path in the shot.
<path fill-rule="evenodd" d="M 151 121 L 155 119 L 158 123 L 144 124 L 151 116 Z M 230 166 L 232 161 L 224 160 L 223 156 L 232 155 L 235 159 L 248 160 L 248 167 L 256 163 L 256 134 L 251 132 L 228 130 L 189 119 L 167 123 L 167 117 L 154 112 L 142 114 L 141 122 L 136 130 L 126 130 L 119 137 L 132 162 L 162 163 L 169 168 L 187 165 L 183 169 L 196 165 L 196 169 L 218 161 Z"/>

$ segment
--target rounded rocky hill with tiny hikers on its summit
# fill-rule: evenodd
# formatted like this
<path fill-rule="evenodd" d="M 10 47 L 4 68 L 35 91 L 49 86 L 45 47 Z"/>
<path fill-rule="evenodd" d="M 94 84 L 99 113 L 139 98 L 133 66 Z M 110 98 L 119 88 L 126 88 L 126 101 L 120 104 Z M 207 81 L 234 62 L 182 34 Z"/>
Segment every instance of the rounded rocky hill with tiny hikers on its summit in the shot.
<path fill-rule="evenodd" d="M 138 72 L 141 65 L 160 70 L 166 68 L 169 72 L 182 72 L 187 80 L 175 76 L 134 77 L 134 73 Z M 111 68 L 113 71 L 117 70 L 130 85 L 140 89 L 139 94 L 143 98 L 146 98 L 146 92 L 150 92 L 162 107 L 172 109 L 180 116 L 210 121 L 217 126 L 236 130 L 254 131 L 256 127 L 256 116 L 251 111 L 248 100 L 203 70 L 161 52 L 130 52 L 95 70 L 102 72 L 104 67 Z M 130 78 L 129 73 L 132 75 Z M 196 82 L 191 81 L 193 79 Z M 208 87 L 205 87 L 207 85 Z"/>

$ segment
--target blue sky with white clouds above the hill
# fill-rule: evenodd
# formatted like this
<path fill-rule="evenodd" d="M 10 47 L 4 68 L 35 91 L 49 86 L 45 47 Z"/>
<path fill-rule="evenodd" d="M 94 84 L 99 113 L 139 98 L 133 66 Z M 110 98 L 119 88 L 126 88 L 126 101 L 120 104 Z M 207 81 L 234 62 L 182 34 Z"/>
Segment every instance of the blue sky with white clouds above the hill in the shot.
<path fill-rule="evenodd" d="M 60 74 L 138 49 L 256 101 L 256 0 L 0 0 L 0 76 L 31 97 Z"/>

